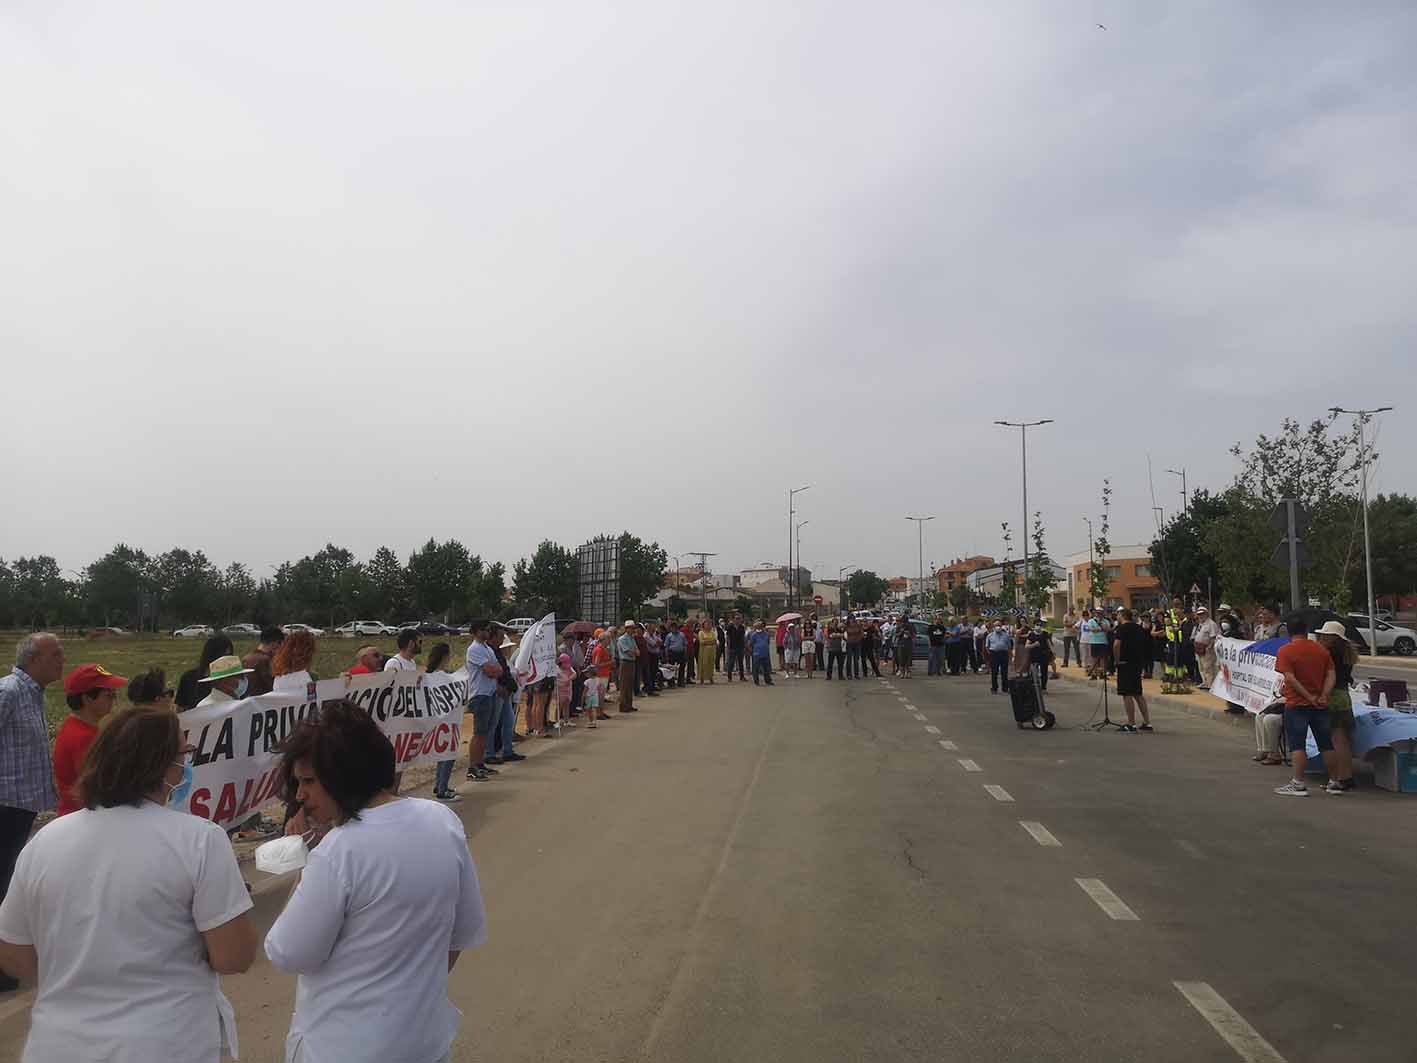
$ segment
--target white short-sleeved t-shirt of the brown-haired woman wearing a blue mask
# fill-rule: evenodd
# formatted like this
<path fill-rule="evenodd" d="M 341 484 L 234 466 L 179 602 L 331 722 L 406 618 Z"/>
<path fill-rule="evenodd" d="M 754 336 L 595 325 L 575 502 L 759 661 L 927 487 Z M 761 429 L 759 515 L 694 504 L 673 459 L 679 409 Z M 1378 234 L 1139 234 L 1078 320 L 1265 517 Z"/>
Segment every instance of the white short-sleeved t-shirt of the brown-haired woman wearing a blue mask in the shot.
<path fill-rule="evenodd" d="M 24 1063 L 217 1063 L 237 1026 L 201 934 L 251 909 L 225 832 L 145 801 L 81 809 L 20 853 L 0 938 L 34 945 Z"/>

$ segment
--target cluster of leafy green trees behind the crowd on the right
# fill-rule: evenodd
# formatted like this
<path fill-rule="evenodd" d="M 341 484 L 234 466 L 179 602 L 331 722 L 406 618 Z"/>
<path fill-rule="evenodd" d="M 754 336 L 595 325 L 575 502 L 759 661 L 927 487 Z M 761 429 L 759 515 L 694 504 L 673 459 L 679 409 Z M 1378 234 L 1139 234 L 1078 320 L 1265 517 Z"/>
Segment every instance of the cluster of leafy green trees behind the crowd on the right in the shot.
<path fill-rule="evenodd" d="M 1308 514 L 1304 595 L 1338 611 L 1366 608 L 1357 446 L 1356 427 L 1335 431 L 1331 421 L 1301 425 L 1291 420 L 1248 449 L 1233 446 L 1240 462 L 1234 480 L 1220 492 L 1196 490 L 1187 512 L 1168 520 L 1152 541 L 1152 561 L 1165 587 L 1182 592 L 1192 584 L 1206 587 L 1209 580 L 1220 598 L 1287 601 L 1288 570 L 1275 557 L 1284 533 L 1271 517 L 1281 499 L 1295 499 Z M 1370 499 L 1369 523 L 1374 594 L 1417 591 L 1417 499 L 1377 495 Z"/>

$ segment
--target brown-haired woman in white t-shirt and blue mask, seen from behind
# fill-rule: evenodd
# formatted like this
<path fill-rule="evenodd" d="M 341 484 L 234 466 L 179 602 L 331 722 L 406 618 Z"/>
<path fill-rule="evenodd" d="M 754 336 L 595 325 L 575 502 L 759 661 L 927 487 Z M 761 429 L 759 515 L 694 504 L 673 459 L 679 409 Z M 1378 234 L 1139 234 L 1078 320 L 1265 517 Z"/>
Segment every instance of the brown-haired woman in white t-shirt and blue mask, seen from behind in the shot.
<path fill-rule="evenodd" d="M 20 853 L 0 904 L 0 967 L 38 975 L 24 1063 L 217 1063 L 237 1054 L 218 974 L 256 931 L 225 832 L 187 812 L 177 716 L 113 713 L 75 791 L 84 808 Z"/>

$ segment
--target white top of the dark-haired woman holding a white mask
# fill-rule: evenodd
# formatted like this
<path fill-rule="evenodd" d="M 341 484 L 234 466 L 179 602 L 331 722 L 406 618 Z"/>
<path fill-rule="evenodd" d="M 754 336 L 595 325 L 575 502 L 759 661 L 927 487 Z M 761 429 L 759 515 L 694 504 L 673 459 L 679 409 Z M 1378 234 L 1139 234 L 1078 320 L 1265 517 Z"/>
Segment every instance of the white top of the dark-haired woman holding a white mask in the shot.
<path fill-rule="evenodd" d="M 286 1059 L 434 1063 L 462 1013 L 448 952 L 487 940 L 462 821 L 401 798 L 334 828 L 310 853 L 265 951 L 299 974 Z"/>

